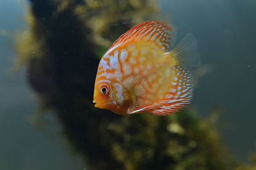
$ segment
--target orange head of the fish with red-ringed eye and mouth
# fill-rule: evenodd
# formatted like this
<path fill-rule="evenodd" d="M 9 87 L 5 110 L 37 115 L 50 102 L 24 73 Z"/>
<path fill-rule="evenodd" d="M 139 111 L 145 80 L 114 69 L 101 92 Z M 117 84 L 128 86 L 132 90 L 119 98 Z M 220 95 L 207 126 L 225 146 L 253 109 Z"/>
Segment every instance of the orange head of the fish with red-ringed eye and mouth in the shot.
<path fill-rule="evenodd" d="M 124 115 L 127 108 L 128 91 L 116 80 L 95 83 L 93 103 L 96 108 L 108 109 Z"/>

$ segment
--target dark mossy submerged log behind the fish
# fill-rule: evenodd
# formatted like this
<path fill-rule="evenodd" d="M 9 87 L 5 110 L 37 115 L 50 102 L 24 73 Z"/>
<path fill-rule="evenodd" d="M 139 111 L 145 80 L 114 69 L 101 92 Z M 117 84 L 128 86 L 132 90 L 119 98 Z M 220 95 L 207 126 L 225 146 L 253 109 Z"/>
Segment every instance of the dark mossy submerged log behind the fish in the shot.
<path fill-rule="evenodd" d="M 54 110 L 68 141 L 89 169 L 232 167 L 214 127 L 192 111 L 120 116 L 93 107 L 99 55 L 133 23 L 111 25 L 158 8 L 150 0 L 109 2 L 30 0 L 29 34 L 17 43 L 29 84 Z"/>

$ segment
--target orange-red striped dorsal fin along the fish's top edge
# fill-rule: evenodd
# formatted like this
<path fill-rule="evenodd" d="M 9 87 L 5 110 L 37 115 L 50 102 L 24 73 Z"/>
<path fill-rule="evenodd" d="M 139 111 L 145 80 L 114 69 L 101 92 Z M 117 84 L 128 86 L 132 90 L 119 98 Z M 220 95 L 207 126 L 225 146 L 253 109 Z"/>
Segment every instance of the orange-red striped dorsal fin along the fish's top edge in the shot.
<path fill-rule="evenodd" d="M 175 29 L 164 24 L 164 22 L 156 20 L 142 22 L 122 34 L 110 48 L 121 43 L 140 40 L 152 41 L 168 52 L 175 43 Z"/>

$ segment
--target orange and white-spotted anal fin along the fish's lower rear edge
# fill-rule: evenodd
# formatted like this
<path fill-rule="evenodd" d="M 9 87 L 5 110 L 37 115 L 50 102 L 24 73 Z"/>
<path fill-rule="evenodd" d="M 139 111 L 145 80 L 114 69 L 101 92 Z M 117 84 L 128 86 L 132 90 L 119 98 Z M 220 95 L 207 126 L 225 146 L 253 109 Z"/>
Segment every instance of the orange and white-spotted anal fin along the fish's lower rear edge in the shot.
<path fill-rule="evenodd" d="M 154 115 L 169 115 L 187 106 L 193 95 L 193 76 L 184 67 L 173 66 L 174 80 L 170 89 L 162 99 L 145 108 L 134 110 L 131 113 L 148 112 Z"/>

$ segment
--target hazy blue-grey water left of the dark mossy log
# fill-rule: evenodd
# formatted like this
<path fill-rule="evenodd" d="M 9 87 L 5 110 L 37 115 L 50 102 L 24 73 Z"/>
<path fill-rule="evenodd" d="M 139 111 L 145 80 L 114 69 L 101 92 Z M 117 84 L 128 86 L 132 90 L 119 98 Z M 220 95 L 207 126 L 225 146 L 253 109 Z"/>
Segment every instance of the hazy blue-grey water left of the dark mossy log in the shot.
<path fill-rule="evenodd" d="M 83 169 L 81 159 L 61 140 L 59 129 L 45 132 L 31 124 L 37 105 L 25 72 L 10 72 L 15 59 L 12 36 L 25 28 L 23 15 L 24 6 L 18 1 L 0 1 L 0 169 Z"/>

